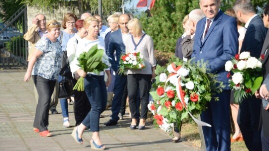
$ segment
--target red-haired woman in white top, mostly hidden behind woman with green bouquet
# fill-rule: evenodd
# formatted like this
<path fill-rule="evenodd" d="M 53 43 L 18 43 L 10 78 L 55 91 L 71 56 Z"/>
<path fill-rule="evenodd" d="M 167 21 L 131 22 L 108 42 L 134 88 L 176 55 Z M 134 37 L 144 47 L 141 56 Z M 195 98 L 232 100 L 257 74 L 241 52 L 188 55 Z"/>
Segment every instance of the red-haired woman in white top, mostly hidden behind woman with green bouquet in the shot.
<path fill-rule="evenodd" d="M 88 35 L 88 32 L 83 27 L 83 21 L 84 20 L 82 19 L 76 21 L 75 25 L 78 32 L 75 34 L 74 37 L 70 38 L 67 42 L 66 51 L 70 63 L 70 68 L 72 68 L 72 66 L 77 66 L 74 62 L 77 45 L 82 41 L 82 39 L 85 36 Z M 72 73 L 72 75 L 74 77 L 73 82 L 75 84 L 77 82 L 77 79 L 79 78 L 79 75 L 76 72 Z M 74 102 L 73 107 L 74 107 L 76 126 L 78 126 L 91 110 L 91 104 L 88 100 L 85 91 L 74 90 L 74 97 L 76 101 Z"/>

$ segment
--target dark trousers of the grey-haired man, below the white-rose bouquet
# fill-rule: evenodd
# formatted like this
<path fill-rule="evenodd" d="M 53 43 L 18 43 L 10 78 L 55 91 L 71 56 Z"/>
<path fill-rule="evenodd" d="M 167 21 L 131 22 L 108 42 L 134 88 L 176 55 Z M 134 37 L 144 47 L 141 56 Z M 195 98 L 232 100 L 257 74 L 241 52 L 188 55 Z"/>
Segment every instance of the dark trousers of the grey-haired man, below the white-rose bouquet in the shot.
<path fill-rule="evenodd" d="M 261 99 L 252 96 L 239 105 L 237 123 L 249 151 L 262 151 L 261 103 Z"/>

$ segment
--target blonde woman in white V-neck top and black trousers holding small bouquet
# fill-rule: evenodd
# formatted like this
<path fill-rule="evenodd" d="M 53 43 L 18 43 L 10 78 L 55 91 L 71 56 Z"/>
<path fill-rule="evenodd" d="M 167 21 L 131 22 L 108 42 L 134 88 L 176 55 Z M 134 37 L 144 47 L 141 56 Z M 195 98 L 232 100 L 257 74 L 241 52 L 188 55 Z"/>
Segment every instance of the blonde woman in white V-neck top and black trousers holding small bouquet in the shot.
<path fill-rule="evenodd" d="M 151 79 L 155 77 L 156 60 L 154 58 L 153 40 L 147 34 L 142 33 L 142 25 L 138 19 L 134 18 L 128 22 L 129 32 L 132 34 L 126 41 L 126 53 L 140 52 L 143 55 L 144 69 L 129 69 L 127 71 L 129 105 L 132 115 L 132 124 L 130 129 L 136 129 L 137 117 L 137 88 L 139 88 L 141 100 L 141 116 L 138 125 L 139 130 L 145 128 L 147 118 L 147 104 Z"/>

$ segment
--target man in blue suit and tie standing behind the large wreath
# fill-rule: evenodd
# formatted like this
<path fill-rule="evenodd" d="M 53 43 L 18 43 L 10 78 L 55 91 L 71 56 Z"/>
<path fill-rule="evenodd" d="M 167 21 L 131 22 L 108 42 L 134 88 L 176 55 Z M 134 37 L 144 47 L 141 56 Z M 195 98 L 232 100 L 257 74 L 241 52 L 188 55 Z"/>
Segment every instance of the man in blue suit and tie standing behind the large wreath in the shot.
<path fill-rule="evenodd" d="M 220 0 L 200 0 L 205 16 L 196 25 L 195 41 L 191 58 L 208 61 L 207 71 L 218 75 L 223 82 L 223 91 L 216 94 L 202 112 L 201 120 L 212 127 L 203 126 L 206 151 L 230 151 L 230 94 L 228 72 L 225 63 L 238 52 L 236 19 L 220 10 Z"/>

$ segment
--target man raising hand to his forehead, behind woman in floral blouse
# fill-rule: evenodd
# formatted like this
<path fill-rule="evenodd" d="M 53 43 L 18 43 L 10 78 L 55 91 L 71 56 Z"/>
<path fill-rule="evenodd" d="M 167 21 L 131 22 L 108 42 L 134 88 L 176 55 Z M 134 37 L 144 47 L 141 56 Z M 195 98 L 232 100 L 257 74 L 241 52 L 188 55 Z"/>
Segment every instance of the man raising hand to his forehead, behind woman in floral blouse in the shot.
<path fill-rule="evenodd" d="M 44 14 L 36 14 L 35 17 L 32 19 L 32 26 L 28 31 L 24 34 L 23 38 L 31 43 L 31 49 L 29 49 L 28 53 L 28 61 L 30 61 L 33 52 L 34 52 L 34 47 L 37 41 L 41 39 L 44 35 L 47 34 L 46 31 L 46 17 Z M 57 82 L 56 82 L 57 83 Z M 50 111 L 51 114 L 58 114 L 58 111 L 56 110 L 56 106 L 58 104 L 58 84 L 55 84 L 54 91 L 51 95 L 51 102 L 50 102 Z M 56 92 L 57 89 L 57 92 Z M 34 96 L 36 103 L 38 103 L 38 93 L 36 90 L 36 87 L 34 85 Z"/>

